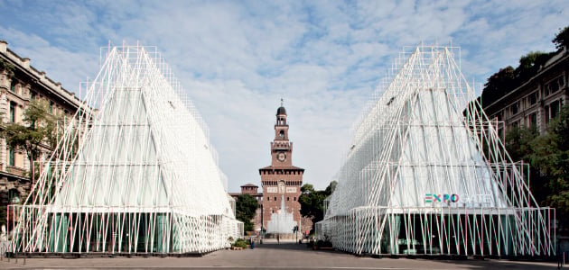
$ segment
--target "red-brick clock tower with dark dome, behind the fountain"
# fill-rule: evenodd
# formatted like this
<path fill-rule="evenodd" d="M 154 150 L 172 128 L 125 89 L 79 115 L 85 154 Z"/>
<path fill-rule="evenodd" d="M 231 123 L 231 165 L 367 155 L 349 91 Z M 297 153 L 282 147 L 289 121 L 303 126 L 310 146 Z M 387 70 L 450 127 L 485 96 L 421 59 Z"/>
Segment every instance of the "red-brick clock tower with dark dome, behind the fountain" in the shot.
<path fill-rule="evenodd" d="M 304 169 L 293 166 L 293 142 L 288 137 L 286 110 L 276 110 L 275 139 L 271 142 L 271 165 L 259 169 L 263 186 L 263 228 L 267 233 L 293 233 L 301 228 L 300 188 Z M 289 228 L 290 227 L 290 228 Z"/>

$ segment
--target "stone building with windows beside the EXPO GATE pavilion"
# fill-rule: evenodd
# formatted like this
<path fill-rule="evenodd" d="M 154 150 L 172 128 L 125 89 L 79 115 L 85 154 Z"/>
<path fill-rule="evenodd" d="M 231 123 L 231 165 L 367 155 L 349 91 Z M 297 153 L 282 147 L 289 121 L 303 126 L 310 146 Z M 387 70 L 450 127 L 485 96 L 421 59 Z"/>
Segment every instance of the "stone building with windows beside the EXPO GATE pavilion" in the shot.
<path fill-rule="evenodd" d="M 569 51 L 555 54 L 536 76 L 490 104 L 482 104 L 491 120 L 503 121 L 500 134 L 512 127 L 546 131 L 549 121 L 567 104 L 569 98 Z"/>

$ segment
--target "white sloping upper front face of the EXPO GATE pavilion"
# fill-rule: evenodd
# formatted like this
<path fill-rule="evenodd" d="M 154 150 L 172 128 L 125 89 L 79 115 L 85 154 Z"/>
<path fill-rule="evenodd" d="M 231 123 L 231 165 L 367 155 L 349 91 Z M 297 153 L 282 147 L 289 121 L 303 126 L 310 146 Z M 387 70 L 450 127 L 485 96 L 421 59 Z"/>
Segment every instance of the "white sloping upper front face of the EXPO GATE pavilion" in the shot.
<path fill-rule="evenodd" d="M 499 192 L 499 184 L 492 181 L 490 167 L 471 138 L 450 90 L 429 87 L 415 91 L 400 107 L 406 110 L 400 114 L 406 126 L 399 131 L 403 136 L 397 137 L 390 157 L 400 165 L 396 181 L 391 183 L 395 185 L 390 186 L 394 193 L 387 196 L 390 201 L 378 205 L 430 206 L 433 202 L 424 197 L 431 191 L 448 194 L 446 201 L 460 206 L 506 207 L 507 200 Z M 452 200 L 451 195 L 455 195 Z"/>

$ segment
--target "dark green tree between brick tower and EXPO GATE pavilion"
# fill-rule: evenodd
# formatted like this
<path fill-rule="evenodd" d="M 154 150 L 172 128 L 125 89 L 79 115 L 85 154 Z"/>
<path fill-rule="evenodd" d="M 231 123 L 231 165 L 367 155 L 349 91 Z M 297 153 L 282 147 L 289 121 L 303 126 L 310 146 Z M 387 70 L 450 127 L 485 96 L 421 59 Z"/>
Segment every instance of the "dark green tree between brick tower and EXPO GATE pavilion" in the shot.
<path fill-rule="evenodd" d="M 303 184 L 298 202 L 301 204 L 301 215 L 312 218 L 312 231 L 316 222 L 324 219 L 324 200 L 336 189 L 336 181 L 332 181 L 325 190 L 314 190 L 312 184 Z"/>

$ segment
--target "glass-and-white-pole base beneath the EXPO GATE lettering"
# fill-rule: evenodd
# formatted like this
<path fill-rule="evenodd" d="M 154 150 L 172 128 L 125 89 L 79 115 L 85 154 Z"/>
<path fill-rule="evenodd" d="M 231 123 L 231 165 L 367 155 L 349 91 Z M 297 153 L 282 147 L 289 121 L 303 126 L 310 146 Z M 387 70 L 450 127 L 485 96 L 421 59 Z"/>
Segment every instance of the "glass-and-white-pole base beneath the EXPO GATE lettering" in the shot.
<path fill-rule="evenodd" d="M 545 220 L 538 220 L 540 216 Z M 517 217 L 525 225 L 520 230 Z M 536 255 L 555 235 L 554 209 L 400 209 L 368 208 L 350 211 L 316 224 L 317 235 L 334 247 L 370 255 L 498 256 Z M 553 250 L 551 250 L 553 251 Z"/>

